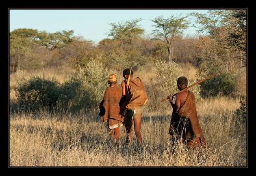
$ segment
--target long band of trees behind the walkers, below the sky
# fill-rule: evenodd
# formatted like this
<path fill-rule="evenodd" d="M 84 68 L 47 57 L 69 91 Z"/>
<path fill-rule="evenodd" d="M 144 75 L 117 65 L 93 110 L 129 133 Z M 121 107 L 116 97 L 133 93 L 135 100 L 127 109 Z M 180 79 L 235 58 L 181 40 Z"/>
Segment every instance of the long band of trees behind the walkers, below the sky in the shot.
<path fill-rule="evenodd" d="M 194 17 L 197 37 L 184 37 L 189 18 Z M 74 31 L 48 33 L 35 29 L 10 32 L 10 72 L 69 64 L 84 68 L 98 60 L 108 68 L 134 69 L 161 59 L 190 62 L 205 68 L 223 65 L 228 68 L 246 66 L 247 11 L 209 10 L 207 14 L 191 13 L 187 17 L 156 17 L 152 36 L 145 36 L 142 19 L 109 23 L 111 30 L 95 45 L 93 41 L 74 36 Z M 206 68 L 207 69 L 207 68 Z"/>

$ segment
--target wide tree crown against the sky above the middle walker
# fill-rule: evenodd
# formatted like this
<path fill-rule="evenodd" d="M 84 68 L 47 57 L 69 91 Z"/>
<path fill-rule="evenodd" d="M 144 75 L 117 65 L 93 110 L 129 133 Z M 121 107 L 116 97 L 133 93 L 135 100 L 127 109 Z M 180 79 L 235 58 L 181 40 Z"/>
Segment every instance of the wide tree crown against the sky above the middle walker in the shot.
<path fill-rule="evenodd" d="M 126 20 L 118 23 L 108 23 L 112 26 L 112 29 L 107 33 L 108 36 L 112 36 L 116 40 L 120 40 L 123 43 L 129 43 L 133 40 L 141 38 L 144 33 L 144 29 L 140 28 L 138 23 L 142 19 Z"/>

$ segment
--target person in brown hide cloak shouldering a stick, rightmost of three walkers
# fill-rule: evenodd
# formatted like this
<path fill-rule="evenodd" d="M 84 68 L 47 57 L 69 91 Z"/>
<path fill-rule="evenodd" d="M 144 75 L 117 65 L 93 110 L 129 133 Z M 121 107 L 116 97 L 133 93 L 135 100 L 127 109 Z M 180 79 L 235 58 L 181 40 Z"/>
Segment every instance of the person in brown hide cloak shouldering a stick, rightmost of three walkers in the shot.
<path fill-rule="evenodd" d="M 175 103 L 173 102 L 174 96 L 168 96 L 169 102 L 173 108 L 169 134 L 173 136 L 172 142 L 174 148 L 177 140 L 180 139 L 184 144 L 187 144 L 189 148 L 205 148 L 206 142 L 195 107 L 195 95 L 193 92 L 186 89 L 187 84 L 187 78 L 181 76 L 177 80 L 177 86 L 180 92 L 176 94 Z"/>

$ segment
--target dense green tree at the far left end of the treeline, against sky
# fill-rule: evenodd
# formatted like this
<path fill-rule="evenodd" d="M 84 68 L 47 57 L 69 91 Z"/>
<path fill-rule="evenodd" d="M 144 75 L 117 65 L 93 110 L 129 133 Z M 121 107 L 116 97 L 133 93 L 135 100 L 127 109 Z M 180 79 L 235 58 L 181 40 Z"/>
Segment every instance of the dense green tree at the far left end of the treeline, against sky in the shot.
<path fill-rule="evenodd" d="M 44 58 L 46 60 L 50 51 L 54 49 L 65 48 L 70 42 L 72 42 L 72 35 L 74 31 L 65 31 L 48 33 L 46 31 L 39 32 L 33 29 L 16 29 L 10 32 L 10 66 L 12 71 L 14 69 L 19 70 L 24 62 L 29 59 L 35 59 L 33 53 L 33 47 L 41 46 L 45 49 Z M 37 49 L 39 52 L 39 49 Z M 31 57 L 32 56 L 32 57 Z M 49 58 L 47 58 L 49 59 Z"/>

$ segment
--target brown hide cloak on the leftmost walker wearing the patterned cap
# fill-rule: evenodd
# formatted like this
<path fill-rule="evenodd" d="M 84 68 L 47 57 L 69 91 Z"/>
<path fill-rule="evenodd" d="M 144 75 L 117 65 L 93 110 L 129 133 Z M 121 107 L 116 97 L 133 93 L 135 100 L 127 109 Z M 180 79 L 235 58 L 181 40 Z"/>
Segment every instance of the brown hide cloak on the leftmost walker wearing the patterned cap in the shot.
<path fill-rule="evenodd" d="M 100 103 L 99 116 L 102 122 L 108 122 L 109 128 L 113 129 L 123 125 L 124 118 L 119 115 L 119 101 L 122 91 L 119 86 L 108 87 L 105 91 L 102 102 Z"/>

